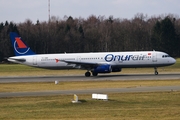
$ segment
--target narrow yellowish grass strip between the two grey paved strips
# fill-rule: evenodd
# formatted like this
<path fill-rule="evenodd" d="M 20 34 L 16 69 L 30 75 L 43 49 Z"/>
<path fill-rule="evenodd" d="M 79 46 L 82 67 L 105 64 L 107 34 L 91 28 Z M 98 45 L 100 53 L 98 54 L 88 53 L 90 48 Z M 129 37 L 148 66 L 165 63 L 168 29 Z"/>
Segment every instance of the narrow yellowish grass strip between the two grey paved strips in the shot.
<path fill-rule="evenodd" d="M 132 81 L 76 81 L 60 82 L 35 82 L 35 83 L 0 83 L 1 92 L 24 92 L 44 90 L 82 90 L 98 88 L 135 88 L 143 86 L 176 86 L 180 80 L 132 80 Z"/>

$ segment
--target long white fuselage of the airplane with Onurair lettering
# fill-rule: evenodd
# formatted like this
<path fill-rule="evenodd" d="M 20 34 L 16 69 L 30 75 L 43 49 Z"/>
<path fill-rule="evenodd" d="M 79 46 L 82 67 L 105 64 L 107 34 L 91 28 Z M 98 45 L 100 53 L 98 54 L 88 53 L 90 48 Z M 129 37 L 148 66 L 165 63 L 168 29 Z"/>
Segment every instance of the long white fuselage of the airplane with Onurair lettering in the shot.
<path fill-rule="evenodd" d="M 176 62 L 168 54 L 158 51 L 39 54 L 9 57 L 8 60 L 49 69 L 82 68 L 81 65 L 86 64 L 109 64 L 119 68 L 161 67 Z"/>

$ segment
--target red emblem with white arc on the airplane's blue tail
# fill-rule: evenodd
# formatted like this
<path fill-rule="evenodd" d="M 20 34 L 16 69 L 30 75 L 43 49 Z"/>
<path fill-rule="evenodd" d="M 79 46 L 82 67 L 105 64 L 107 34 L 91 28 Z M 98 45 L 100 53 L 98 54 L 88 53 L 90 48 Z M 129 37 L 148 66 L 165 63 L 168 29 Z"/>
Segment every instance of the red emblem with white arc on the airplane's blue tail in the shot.
<path fill-rule="evenodd" d="M 20 37 L 15 37 L 14 49 L 19 54 L 26 54 L 30 48 L 22 42 Z"/>

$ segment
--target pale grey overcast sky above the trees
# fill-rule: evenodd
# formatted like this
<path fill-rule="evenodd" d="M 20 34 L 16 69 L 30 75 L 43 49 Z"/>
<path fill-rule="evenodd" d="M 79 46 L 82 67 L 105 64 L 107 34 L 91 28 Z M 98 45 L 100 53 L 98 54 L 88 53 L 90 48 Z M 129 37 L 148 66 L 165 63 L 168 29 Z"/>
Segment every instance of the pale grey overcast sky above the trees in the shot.
<path fill-rule="evenodd" d="M 112 15 L 114 18 L 133 18 L 137 13 L 158 16 L 180 15 L 180 0 L 50 0 L 51 16 L 63 19 L 88 18 L 90 15 Z M 0 22 L 48 21 L 48 0 L 0 0 Z"/>

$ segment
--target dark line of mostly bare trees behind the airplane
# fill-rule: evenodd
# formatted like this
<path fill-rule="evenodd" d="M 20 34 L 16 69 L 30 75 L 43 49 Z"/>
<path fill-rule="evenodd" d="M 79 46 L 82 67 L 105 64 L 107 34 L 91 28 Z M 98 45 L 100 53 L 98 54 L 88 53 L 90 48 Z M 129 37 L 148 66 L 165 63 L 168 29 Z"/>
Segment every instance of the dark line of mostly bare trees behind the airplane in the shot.
<path fill-rule="evenodd" d="M 48 22 L 0 24 L 0 59 L 14 56 L 9 32 L 15 31 L 35 53 L 156 50 L 180 56 L 180 19 L 175 15 L 133 19 L 91 15 L 87 19 L 51 17 Z"/>

